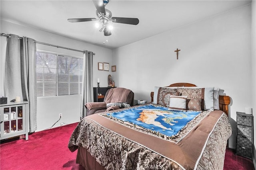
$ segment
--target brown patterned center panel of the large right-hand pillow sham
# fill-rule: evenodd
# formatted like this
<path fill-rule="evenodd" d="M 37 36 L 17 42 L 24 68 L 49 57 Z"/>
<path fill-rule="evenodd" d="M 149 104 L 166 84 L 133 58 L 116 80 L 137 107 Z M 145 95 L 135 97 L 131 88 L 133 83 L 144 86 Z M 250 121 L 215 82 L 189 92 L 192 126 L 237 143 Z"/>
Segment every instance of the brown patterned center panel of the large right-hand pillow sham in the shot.
<path fill-rule="evenodd" d="M 204 110 L 204 88 L 177 88 L 177 91 L 182 96 L 188 96 L 188 99 L 201 99 L 201 110 Z M 187 106 L 189 101 L 187 100 Z M 186 109 L 189 110 L 188 107 Z"/>

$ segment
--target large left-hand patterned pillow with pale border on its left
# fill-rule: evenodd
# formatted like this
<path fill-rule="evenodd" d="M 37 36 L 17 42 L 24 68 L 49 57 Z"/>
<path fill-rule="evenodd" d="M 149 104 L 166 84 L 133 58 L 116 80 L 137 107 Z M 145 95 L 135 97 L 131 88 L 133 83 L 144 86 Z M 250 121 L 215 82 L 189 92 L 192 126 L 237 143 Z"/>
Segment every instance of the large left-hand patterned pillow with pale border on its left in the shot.
<path fill-rule="evenodd" d="M 172 87 L 155 87 L 154 89 L 154 104 L 160 104 L 168 107 L 170 104 L 170 96 L 179 96 L 177 88 Z"/>

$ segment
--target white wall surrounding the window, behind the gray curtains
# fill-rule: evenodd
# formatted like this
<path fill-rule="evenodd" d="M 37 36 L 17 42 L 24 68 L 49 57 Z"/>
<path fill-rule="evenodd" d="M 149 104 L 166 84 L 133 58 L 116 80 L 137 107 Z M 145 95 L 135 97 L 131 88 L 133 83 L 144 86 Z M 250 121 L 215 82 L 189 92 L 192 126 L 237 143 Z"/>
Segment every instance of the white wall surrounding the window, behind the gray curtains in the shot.
<path fill-rule="evenodd" d="M 1 33 L 16 34 L 35 39 L 36 41 L 50 43 L 62 47 L 68 47 L 78 50 L 93 51 L 96 55 L 93 58 L 93 84 L 96 87 L 97 78 L 100 78 L 101 87 L 108 86 L 108 74 L 111 72 L 99 71 L 98 62 L 112 63 L 112 50 L 91 45 L 74 39 L 69 39 L 56 34 L 41 31 L 32 27 L 10 23 L 1 20 Z M 4 60 L 6 53 L 6 37 L 1 37 L 0 41 L 0 96 L 4 96 Z M 83 53 L 70 51 L 66 49 L 51 47 L 47 45 L 36 45 L 38 50 L 62 53 L 66 55 L 83 57 Z M 38 98 L 37 123 L 38 130 L 41 131 L 51 127 L 62 113 L 62 119 L 54 127 L 60 126 L 61 122 L 74 123 L 80 121 L 80 95 L 59 96 L 50 98 Z M 8 99 L 9 100 L 9 99 Z"/>

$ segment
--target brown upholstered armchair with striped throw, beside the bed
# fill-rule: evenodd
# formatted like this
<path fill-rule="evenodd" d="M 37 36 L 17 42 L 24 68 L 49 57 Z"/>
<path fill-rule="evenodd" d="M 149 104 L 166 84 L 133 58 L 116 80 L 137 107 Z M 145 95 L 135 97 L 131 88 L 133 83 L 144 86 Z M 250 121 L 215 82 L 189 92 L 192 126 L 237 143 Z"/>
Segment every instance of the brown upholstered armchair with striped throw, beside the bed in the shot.
<path fill-rule="evenodd" d="M 87 116 L 94 113 L 121 109 L 133 106 L 134 93 L 126 88 L 110 88 L 105 94 L 103 102 L 88 102 L 85 104 Z"/>

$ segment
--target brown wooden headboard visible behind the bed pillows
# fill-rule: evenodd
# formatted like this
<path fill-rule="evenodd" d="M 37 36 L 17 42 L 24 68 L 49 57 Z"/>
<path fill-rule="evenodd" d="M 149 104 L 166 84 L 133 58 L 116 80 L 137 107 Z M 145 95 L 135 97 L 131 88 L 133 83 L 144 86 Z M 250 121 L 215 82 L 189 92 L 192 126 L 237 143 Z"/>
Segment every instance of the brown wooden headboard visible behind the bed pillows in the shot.
<path fill-rule="evenodd" d="M 196 85 L 190 84 L 190 83 L 174 83 L 166 87 L 196 87 Z M 150 96 L 151 96 L 151 102 L 153 102 L 154 92 L 151 92 Z M 220 104 L 220 110 L 222 110 L 228 116 L 228 105 L 230 104 L 230 97 L 219 96 L 219 104 Z"/>

